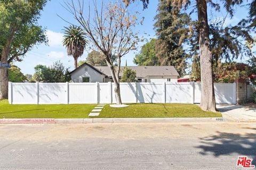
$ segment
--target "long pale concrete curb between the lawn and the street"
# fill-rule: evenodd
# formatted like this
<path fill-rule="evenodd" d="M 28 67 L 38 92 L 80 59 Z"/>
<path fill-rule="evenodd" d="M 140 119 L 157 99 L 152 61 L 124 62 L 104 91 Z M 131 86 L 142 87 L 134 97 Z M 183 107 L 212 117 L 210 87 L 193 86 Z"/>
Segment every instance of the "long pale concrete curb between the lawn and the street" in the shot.
<path fill-rule="evenodd" d="M 223 117 L 183 118 L 3 118 L 0 124 L 13 123 L 139 123 L 139 122 L 227 122 Z"/>

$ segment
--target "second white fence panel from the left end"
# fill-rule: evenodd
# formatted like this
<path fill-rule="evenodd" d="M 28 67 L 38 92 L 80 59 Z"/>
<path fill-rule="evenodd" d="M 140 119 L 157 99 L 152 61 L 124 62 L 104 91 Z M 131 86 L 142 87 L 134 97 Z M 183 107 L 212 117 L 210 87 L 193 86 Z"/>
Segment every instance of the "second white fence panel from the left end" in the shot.
<path fill-rule="evenodd" d="M 66 104 L 66 83 L 39 83 L 38 104 Z"/>

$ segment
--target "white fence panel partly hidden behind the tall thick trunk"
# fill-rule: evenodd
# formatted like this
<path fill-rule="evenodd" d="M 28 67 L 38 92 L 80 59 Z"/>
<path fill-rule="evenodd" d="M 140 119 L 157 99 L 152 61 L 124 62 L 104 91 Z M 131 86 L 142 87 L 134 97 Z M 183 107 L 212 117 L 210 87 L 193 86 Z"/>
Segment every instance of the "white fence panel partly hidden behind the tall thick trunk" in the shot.
<path fill-rule="evenodd" d="M 236 104 L 235 83 L 214 83 L 217 104 Z M 195 83 L 194 103 L 201 102 L 201 83 Z"/>

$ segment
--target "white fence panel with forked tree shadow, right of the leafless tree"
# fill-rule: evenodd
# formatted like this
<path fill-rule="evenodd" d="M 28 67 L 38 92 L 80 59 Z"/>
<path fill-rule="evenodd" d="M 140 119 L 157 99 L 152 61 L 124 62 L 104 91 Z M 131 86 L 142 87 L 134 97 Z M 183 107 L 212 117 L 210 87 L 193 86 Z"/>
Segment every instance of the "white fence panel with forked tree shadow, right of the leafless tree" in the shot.
<path fill-rule="evenodd" d="M 138 103 L 163 103 L 163 83 L 138 83 Z"/>

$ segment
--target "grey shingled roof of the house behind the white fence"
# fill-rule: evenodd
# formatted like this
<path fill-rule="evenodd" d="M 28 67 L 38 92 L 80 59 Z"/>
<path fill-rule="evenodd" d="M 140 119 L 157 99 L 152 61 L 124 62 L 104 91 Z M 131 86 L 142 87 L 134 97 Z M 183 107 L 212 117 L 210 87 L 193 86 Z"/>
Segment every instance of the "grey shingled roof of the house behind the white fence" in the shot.
<path fill-rule="evenodd" d="M 111 77 L 111 72 L 108 66 L 92 66 L 88 63 L 84 63 L 82 65 L 80 65 L 79 67 L 77 67 L 77 69 L 73 70 L 70 72 L 70 74 L 72 74 L 73 72 L 75 72 L 76 70 L 78 70 L 81 67 L 84 67 L 85 65 L 90 66 L 92 69 L 94 69 L 95 71 L 99 72 L 100 74 L 104 74 L 107 75 L 108 77 Z M 123 75 L 122 70 L 124 69 L 125 66 L 121 66 L 121 71 L 120 71 L 120 76 Z M 131 68 L 132 70 L 135 70 L 137 73 L 137 77 L 147 77 L 148 75 L 153 75 L 153 76 L 163 76 L 163 75 L 167 75 L 167 76 L 179 76 L 179 73 L 175 70 L 174 66 L 127 66 L 129 68 Z"/>

